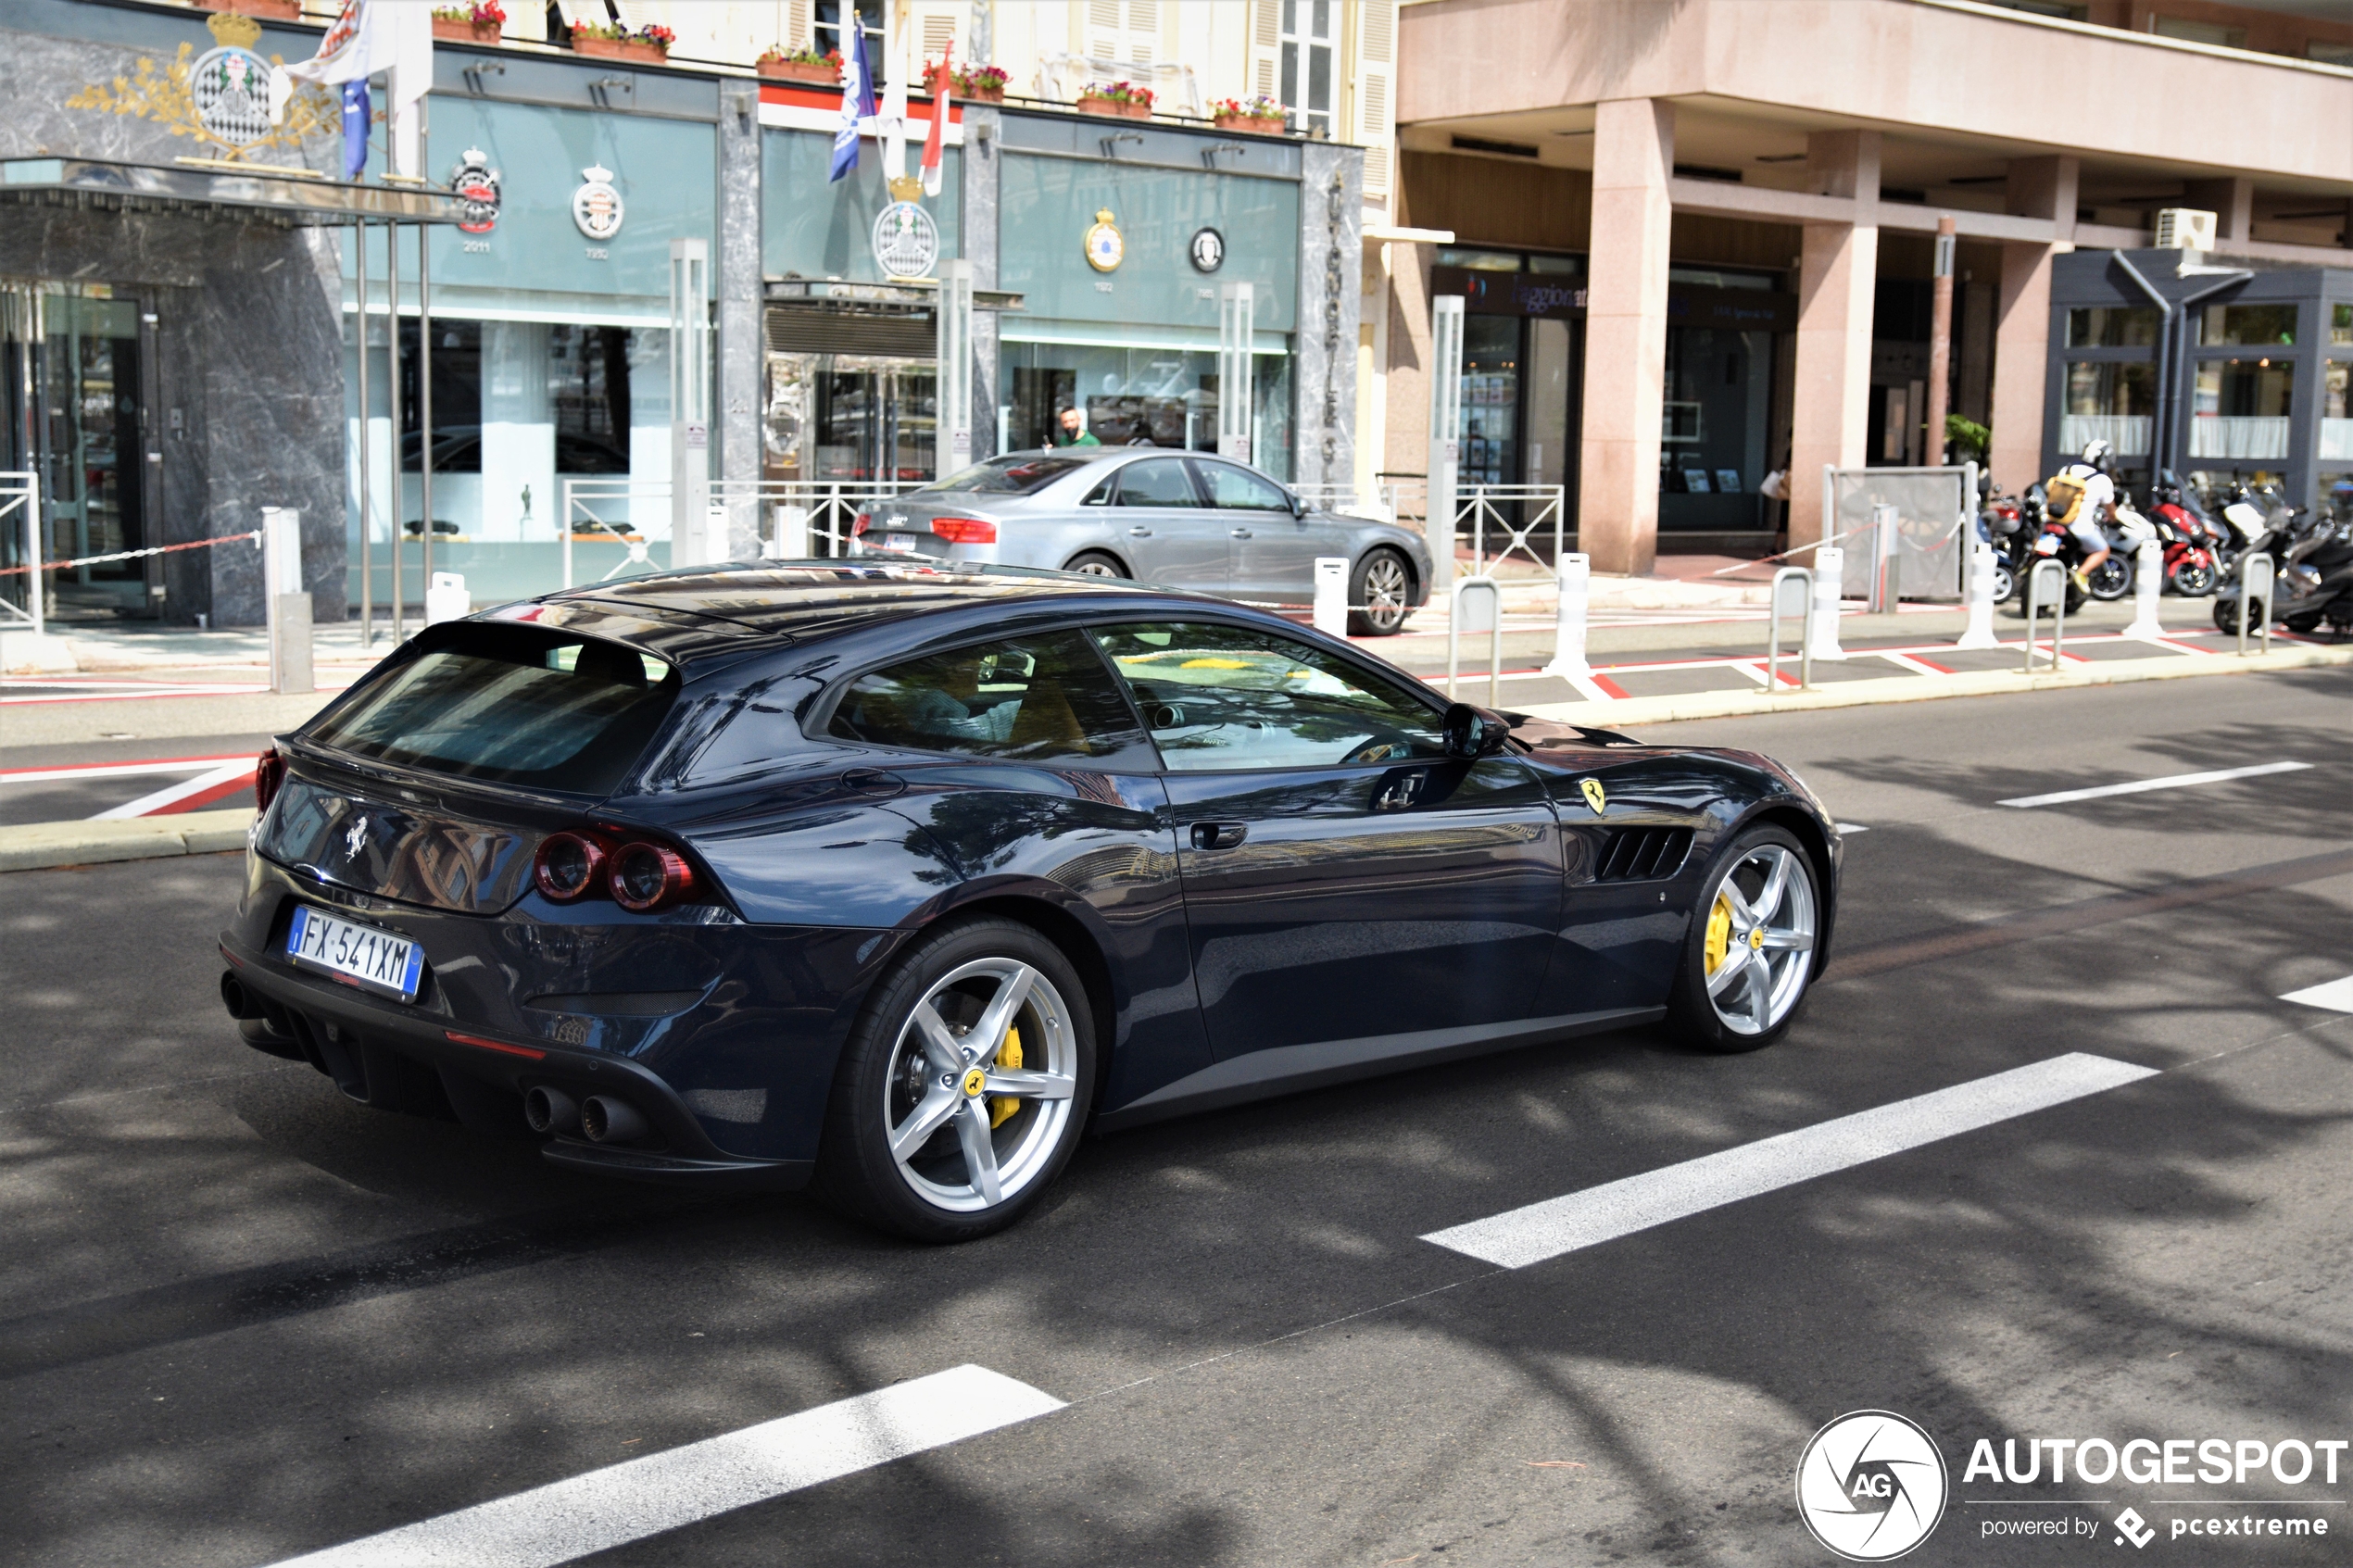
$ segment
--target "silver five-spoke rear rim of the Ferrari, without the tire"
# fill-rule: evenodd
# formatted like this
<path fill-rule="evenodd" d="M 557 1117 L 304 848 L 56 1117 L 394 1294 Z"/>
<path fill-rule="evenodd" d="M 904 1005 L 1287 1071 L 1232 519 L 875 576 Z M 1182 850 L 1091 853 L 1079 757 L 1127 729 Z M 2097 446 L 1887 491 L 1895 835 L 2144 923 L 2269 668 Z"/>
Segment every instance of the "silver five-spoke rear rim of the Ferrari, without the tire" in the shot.
<path fill-rule="evenodd" d="M 1078 1093 L 1068 1004 L 1021 959 L 958 964 L 908 1013 L 880 1088 L 908 1190 L 951 1213 L 995 1208 L 1061 1147 Z"/>

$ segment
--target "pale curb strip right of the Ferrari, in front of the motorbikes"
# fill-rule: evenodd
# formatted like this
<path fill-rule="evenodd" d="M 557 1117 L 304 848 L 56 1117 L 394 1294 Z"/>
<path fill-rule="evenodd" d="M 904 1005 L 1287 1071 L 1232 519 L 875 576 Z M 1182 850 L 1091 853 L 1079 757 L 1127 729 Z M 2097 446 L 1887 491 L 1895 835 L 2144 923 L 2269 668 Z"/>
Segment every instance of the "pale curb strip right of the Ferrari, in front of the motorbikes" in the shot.
<path fill-rule="evenodd" d="M 2165 658 L 2115 658 L 2080 670 L 2024 675 L 2019 670 L 1974 670 L 1969 675 L 1892 675 L 1887 679 L 1840 682 L 1812 691 L 1692 691 L 1685 696 L 1628 696 L 1612 703 L 1541 703 L 1525 708 L 1537 719 L 1558 724 L 1668 724 L 1673 719 L 1734 719 L 1760 712 L 1817 712 L 1821 708 L 1868 708 L 1875 703 L 1934 703 L 1948 696 L 2005 696 L 2012 691 L 2078 691 L 2085 686 L 2127 686 L 2144 679 L 2184 679 L 2195 675 L 2264 675 L 2266 670 L 2315 670 L 2353 665 L 2346 649 L 2280 649 L 2275 654 L 2191 654 Z"/>

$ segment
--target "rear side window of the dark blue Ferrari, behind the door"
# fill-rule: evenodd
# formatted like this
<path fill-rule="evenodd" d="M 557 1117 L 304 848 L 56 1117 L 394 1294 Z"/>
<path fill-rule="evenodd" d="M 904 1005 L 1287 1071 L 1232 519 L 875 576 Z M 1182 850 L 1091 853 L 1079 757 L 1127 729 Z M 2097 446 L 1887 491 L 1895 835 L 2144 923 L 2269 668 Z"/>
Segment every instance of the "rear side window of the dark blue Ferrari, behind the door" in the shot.
<path fill-rule="evenodd" d="M 861 675 L 828 733 L 1009 762 L 1151 766 L 1136 717 L 1078 632 L 981 642 Z"/>

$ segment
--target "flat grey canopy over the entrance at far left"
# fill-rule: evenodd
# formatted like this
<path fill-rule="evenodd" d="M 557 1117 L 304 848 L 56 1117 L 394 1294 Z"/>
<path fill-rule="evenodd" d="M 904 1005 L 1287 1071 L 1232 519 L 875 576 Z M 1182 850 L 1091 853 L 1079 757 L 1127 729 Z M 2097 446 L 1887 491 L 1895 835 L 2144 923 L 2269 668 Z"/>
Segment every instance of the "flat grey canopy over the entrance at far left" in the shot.
<path fill-rule="evenodd" d="M 348 186 L 308 169 L 181 160 L 176 165 L 99 158 L 9 158 L 0 202 L 94 212 L 221 212 L 311 228 L 325 223 L 456 223 L 466 205 L 433 186 Z"/>

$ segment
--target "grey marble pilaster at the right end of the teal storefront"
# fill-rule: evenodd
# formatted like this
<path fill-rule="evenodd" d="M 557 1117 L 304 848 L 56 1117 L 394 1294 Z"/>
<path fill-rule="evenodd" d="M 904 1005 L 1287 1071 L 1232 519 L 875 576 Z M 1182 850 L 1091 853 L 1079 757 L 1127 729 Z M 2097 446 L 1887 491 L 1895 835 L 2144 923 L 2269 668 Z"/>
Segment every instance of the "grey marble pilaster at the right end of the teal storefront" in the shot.
<path fill-rule="evenodd" d="M 1365 150 L 1334 141 L 1299 148 L 1299 324 L 1292 484 L 1341 484 L 1355 473 L 1355 322 L 1362 313 Z"/>

